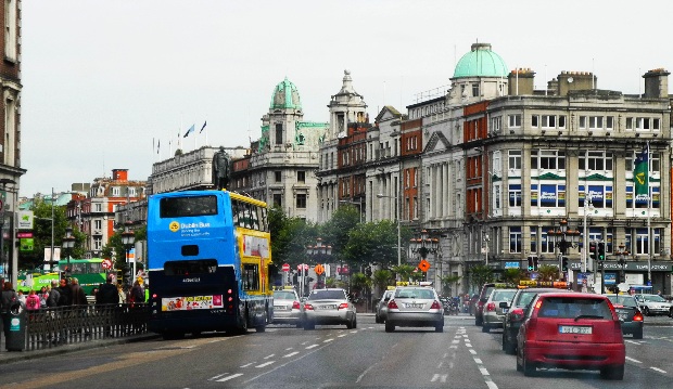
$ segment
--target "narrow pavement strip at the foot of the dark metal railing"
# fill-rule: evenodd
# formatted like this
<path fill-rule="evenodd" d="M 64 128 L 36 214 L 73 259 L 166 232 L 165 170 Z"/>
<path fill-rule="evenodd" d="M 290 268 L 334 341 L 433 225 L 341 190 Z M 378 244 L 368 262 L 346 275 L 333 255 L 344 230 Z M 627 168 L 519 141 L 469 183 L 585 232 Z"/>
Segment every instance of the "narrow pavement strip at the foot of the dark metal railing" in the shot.
<path fill-rule="evenodd" d="M 52 347 L 50 349 L 42 349 L 42 350 L 7 351 L 4 349 L 4 334 L 0 334 L 0 365 L 13 363 L 17 361 L 26 361 L 26 360 L 38 359 L 38 358 L 59 355 L 59 354 L 66 353 L 66 352 L 89 350 L 89 349 L 98 348 L 98 347 L 130 343 L 134 341 L 142 341 L 142 340 L 148 340 L 148 339 L 154 339 L 157 337 L 160 337 L 160 335 L 154 334 L 154 333 L 148 333 L 148 334 L 141 334 L 141 335 L 126 336 L 123 338 L 107 338 L 107 339 L 100 339 L 100 340 L 82 341 L 78 343 L 64 345 L 64 346 Z"/>

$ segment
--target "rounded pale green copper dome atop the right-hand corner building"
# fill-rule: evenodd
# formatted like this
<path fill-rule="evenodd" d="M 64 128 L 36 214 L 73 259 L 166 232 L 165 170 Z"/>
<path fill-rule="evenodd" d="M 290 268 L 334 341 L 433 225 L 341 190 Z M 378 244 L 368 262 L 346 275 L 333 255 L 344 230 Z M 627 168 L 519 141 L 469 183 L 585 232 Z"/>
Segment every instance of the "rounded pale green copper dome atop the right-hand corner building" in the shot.
<path fill-rule="evenodd" d="M 507 77 L 505 61 L 491 50 L 488 43 L 473 43 L 469 53 L 462 55 L 454 78 L 460 77 Z"/>

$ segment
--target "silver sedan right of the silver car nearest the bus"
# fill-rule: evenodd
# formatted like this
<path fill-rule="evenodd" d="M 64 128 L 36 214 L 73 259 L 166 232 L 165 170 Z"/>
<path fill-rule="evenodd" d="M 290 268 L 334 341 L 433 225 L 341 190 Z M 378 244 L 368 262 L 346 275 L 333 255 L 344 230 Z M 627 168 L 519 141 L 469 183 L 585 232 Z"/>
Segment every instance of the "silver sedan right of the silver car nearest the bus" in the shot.
<path fill-rule="evenodd" d="M 310 291 L 304 302 L 304 329 L 314 329 L 316 324 L 345 324 L 348 329 L 357 327 L 355 306 L 344 289 Z"/>

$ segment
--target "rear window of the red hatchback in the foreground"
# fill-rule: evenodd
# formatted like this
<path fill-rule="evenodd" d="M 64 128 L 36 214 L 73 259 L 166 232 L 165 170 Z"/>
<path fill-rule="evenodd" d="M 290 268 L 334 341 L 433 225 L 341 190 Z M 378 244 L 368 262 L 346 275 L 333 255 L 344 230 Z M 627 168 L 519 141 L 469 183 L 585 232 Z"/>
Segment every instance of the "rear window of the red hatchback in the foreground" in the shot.
<path fill-rule="evenodd" d="M 595 317 L 611 320 L 608 302 L 596 298 L 548 297 L 542 299 L 538 317 Z"/>

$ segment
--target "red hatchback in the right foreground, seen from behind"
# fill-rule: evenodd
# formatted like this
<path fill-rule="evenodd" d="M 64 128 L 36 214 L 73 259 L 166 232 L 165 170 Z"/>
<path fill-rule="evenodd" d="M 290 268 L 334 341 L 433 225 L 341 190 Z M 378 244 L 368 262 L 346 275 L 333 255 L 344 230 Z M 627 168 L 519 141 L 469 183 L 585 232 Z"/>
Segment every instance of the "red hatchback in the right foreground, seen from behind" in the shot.
<path fill-rule="evenodd" d="M 614 307 L 606 296 L 547 293 L 533 300 L 517 336 L 517 369 L 597 369 L 623 379 L 626 350 Z"/>

